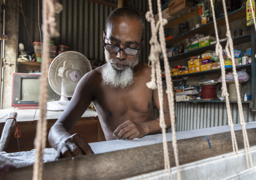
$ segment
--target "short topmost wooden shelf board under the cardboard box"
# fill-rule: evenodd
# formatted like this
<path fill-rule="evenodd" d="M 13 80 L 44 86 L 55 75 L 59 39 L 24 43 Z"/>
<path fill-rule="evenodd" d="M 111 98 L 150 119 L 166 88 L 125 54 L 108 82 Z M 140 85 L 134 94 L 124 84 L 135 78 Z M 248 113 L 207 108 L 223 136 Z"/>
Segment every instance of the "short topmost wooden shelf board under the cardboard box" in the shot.
<path fill-rule="evenodd" d="M 195 16 L 199 15 L 198 6 L 191 8 L 190 10 L 176 16 L 175 18 L 168 21 L 168 23 L 164 26 L 164 28 L 172 28 L 184 21 L 187 21 Z"/>

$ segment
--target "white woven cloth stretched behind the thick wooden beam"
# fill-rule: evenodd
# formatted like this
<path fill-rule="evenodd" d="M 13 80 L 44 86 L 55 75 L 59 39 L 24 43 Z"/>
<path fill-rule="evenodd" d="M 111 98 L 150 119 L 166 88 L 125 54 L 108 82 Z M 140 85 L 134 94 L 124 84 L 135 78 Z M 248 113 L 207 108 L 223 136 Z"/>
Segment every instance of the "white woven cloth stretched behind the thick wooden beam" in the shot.
<path fill-rule="evenodd" d="M 256 122 L 248 122 L 246 123 L 246 129 L 256 127 Z M 242 126 L 240 124 L 234 125 L 235 130 L 241 130 Z M 176 132 L 176 137 L 178 139 L 186 139 L 191 137 L 198 137 L 204 135 L 211 135 L 217 134 L 222 132 L 229 132 L 230 127 L 226 126 L 217 126 L 217 127 L 209 127 L 203 129 L 194 129 L 194 130 L 187 130 L 187 131 L 179 131 Z M 172 133 L 167 133 L 167 141 L 172 140 Z M 154 134 L 154 135 L 147 135 L 143 138 L 135 138 L 133 140 L 127 139 L 117 139 L 117 140 L 110 140 L 110 141 L 102 141 L 102 142 L 94 142 L 89 143 L 92 150 L 95 154 L 110 152 L 115 150 L 145 146 L 150 144 L 161 143 L 162 134 Z M 53 148 L 45 148 L 44 149 L 44 156 L 43 161 L 54 161 L 57 158 L 57 151 Z M 35 149 L 31 151 L 22 151 L 22 152 L 14 152 L 14 153 L 6 153 L 0 152 L 0 165 L 3 164 L 12 164 L 16 167 L 23 167 L 27 165 L 32 165 L 35 161 Z"/>

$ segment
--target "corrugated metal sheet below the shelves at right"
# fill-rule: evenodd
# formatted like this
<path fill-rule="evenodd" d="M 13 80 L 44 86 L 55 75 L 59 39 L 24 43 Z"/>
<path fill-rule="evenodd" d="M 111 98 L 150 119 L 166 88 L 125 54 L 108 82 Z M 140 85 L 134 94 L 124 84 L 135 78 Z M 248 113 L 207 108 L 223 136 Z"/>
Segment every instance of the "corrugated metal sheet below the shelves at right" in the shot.
<path fill-rule="evenodd" d="M 249 103 L 243 103 L 242 106 L 245 122 L 255 121 L 256 112 L 251 111 Z M 239 123 L 237 104 L 230 103 L 230 108 L 233 123 Z M 175 114 L 177 118 L 176 131 L 228 125 L 226 103 L 209 102 L 201 105 L 177 102 L 175 104 Z"/>

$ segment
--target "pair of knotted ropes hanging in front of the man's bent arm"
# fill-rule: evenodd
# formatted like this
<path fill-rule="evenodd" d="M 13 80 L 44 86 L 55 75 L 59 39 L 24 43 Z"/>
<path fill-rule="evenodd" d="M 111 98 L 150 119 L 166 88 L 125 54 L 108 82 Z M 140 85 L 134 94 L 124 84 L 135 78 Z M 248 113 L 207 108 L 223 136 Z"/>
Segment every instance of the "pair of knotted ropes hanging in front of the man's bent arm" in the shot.
<path fill-rule="evenodd" d="M 165 121 L 164 121 L 164 114 L 163 114 L 163 86 L 162 86 L 162 78 L 161 78 L 161 67 L 159 61 L 159 53 L 163 53 L 164 58 L 164 68 L 166 72 L 166 82 L 167 82 L 167 97 L 168 97 L 168 105 L 169 105 L 169 112 L 170 112 L 170 119 L 171 119 L 171 128 L 172 128 L 172 146 L 174 150 L 174 157 L 175 157 L 175 164 L 177 167 L 177 179 L 181 179 L 180 172 L 179 172 L 179 161 L 178 161 L 178 149 L 177 149 L 177 141 L 176 141 L 176 134 L 175 134 L 175 112 L 174 112 L 174 100 L 173 100 L 173 91 L 171 85 L 171 76 L 170 76 L 170 67 L 169 62 L 166 56 L 166 44 L 164 38 L 164 29 L 163 26 L 167 23 L 166 19 L 162 18 L 162 11 L 161 11 L 161 3 L 160 0 L 157 1 L 157 7 L 159 12 L 159 21 L 155 25 L 154 15 L 152 11 L 152 3 L 149 0 L 149 12 L 146 14 L 146 19 L 148 22 L 151 23 L 151 31 L 152 37 L 150 40 L 150 56 L 149 61 L 152 63 L 152 74 L 151 74 L 151 81 L 147 83 L 147 86 L 151 89 L 155 89 L 155 84 L 157 84 L 158 88 L 158 97 L 159 97 L 159 104 L 160 104 L 160 127 L 162 128 L 163 134 L 163 148 L 164 148 L 164 167 L 168 169 L 169 176 L 170 176 L 170 161 L 169 161 L 169 154 L 168 154 L 168 147 L 166 141 L 166 133 L 165 133 Z M 159 29 L 159 38 L 160 43 L 157 41 L 157 31 Z M 155 70 L 156 69 L 156 70 Z M 155 83 L 155 71 L 157 76 L 157 83 Z"/>

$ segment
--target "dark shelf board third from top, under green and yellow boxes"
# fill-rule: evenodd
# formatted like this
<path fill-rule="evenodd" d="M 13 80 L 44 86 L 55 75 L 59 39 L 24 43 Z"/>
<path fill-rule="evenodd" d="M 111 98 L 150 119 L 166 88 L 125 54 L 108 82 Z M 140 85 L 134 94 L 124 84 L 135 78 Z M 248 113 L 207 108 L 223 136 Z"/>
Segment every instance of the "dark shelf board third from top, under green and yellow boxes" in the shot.
<path fill-rule="evenodd" d="M 251 40 L 250 34 L 235 37 L 235 38 L 233 38 L 233 45 L 236 46 L 239 44 L 247 43 L 247 42 L 250 42 L 250 40 Z M 220 42 L 220 44 L 223 46 L 223 48 L 226 46 L 226 43 L 227 43 L 227 41 Z M 168 61 L 172 62 L 172 61 L 177 61 L 180 59 L 185 59 L 185 58 L 191 57 L 191 56 L 197 56 L 199 54 L 204 53 L 207 50 L 215 51 L 215 46 L 216 46 L 216 44 L 212 44 L 210 46 L 206 46 L 206 47 L 195 49 L 195 50 L 192 50 L 192 51 L 189 51 L 186 53 L 178 54 L 178 55 L 169 57 Z"/>

